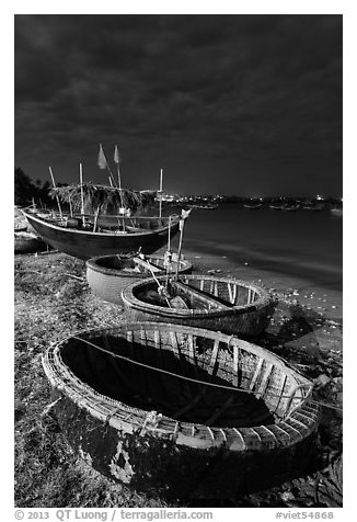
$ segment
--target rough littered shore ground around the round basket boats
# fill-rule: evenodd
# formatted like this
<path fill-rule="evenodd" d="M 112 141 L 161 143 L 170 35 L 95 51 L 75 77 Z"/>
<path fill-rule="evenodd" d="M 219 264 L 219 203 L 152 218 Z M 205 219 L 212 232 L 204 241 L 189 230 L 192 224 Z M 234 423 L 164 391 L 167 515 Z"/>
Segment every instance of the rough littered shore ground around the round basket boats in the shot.
<path fill-rule="evenodd" d="M 115 325 L 122 309 L 94 296 L 84 263 L 58 252 L 15 257 L 15 506 L 16 507 L 341 507 L 342 302 L 334 293 L 227 259 L 185 252 L 195 272 L 264 284 L 278 298 L 256 342 L 315 383 L 322 404 L 315 458 L 308 474 L 258 493 L 204 504 L 168 503 L 120 487 L 88 467 L 62 438 L 50 409 L 41 356 L 50 342 L 87 328 Z"/>

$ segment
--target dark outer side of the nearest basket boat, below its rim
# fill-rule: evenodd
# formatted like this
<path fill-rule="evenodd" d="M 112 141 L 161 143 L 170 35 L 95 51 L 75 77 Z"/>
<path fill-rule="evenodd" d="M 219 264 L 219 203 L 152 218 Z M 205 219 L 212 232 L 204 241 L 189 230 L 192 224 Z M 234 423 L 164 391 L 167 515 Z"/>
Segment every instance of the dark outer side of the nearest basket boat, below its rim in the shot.
<path fill-rule="evenodd" d="M 156 498 L 233 499 L 261 491 L 303 475 L 315 447 L 314 432 L 293 446 L 258 452 L 178 446 L 139 429 L 126 433 L 113 428 L 59 392 L 51 398 L 60 399 L 56 416 L 61 431 L 87 464 Z"/>

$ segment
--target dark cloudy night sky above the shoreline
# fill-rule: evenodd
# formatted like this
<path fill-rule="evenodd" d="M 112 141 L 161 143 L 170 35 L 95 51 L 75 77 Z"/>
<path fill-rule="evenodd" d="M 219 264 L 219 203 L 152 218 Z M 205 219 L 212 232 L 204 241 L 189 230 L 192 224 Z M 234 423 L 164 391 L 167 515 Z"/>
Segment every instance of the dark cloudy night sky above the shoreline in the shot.
<path fill-rule="evenodd" d="M 342 195 L 342 15 L 15 15 L 15 167 L 180 193 Z"/>

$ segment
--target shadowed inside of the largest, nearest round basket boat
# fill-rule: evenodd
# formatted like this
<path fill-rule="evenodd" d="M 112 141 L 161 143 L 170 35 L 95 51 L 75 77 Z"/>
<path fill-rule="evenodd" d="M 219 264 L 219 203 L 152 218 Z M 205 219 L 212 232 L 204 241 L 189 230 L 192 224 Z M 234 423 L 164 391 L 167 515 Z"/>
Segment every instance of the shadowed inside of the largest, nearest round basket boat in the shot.
<path fill-rule="evenodd" d="M 284 397 L 297 383 L 246 345 L 230 347 L 170 327 L 125 337 L 102 331 L 68 340 L 61 359 L 96 393 L 131 408 L 208 427 L 275 423 L 287 412 L 290 401 Z"/>

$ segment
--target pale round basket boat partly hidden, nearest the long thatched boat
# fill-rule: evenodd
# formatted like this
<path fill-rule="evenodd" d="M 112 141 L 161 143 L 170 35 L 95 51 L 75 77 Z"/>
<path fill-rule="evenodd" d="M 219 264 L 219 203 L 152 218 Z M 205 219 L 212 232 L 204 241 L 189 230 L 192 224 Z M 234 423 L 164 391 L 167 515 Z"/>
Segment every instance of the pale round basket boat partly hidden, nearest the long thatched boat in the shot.
<path fill-rule="evenodd" d="M 110 303 L 123 304 L 122 291 L 128 285 L 150 277 L 152 272 L 158 275 L 165 273 L 163 256 L 150 256 L 146 260 L 138 257 L 99 256 L 87 261 L 87 281 L 92 292 Z M 171 272 L 176 273 L 177 256 L 173 254 Z M 193 265 L 182 259 L 178 263 L 178 273 L 191 273 Z"/>

